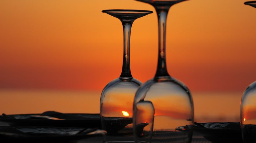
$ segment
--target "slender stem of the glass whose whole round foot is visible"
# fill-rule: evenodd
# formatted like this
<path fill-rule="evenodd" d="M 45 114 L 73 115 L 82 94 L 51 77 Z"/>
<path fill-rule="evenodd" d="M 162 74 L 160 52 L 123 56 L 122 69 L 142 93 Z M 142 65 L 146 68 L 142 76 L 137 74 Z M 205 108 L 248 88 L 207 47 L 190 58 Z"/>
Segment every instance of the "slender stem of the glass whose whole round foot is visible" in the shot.
<path fill-rule="evenodd" d="M 122 22 L 124 28 L 124 58 L 123 67 L 120 77 L 132 77 L 130 68 L 130 38 L 131 38 L 131 22 Z"/>

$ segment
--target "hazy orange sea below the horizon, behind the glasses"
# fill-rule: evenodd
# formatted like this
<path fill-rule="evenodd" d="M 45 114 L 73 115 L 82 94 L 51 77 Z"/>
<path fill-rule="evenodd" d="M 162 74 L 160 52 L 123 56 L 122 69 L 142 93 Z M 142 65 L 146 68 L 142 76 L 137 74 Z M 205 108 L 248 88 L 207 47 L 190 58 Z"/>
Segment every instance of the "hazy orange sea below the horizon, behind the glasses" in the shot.
<path fill-rule="evenodd" d="M 0 113 L 99 113 L 101 91 L 0 89 Z M 239 92 L 192 92 L 196 122 L 238 122 Z"/>

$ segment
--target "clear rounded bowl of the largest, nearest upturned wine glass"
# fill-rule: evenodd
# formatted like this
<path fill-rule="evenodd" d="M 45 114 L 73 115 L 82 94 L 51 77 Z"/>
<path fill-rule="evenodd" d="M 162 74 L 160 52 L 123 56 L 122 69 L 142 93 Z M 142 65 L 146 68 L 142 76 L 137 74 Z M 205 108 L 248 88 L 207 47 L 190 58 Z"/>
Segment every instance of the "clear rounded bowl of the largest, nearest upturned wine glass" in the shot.
<path fill-rule="evenodd" d="M 152 102 L 154 108 L 141 107 L 141 104 L 145 102 Z M 134 99 L 135 126 L 149 120 L 146 119 L 147 116 L 138 116 L 136 114 L 138 110 L 144 114 L 154 112 L 155 115 L 151 116 L 152 121 L 154 121 L 153 134 L 152 127 L 148 127 L 151 130 L 145 129 L 142 132 L 135 129 L 137 142 L 159 142 L 161 136 L 166 136 L 165 140 L 170 143 L 189 142 L 191 140 L 194 116 L 193 102 L 189 89 L 180 81 L 170 76 L 164 76 L 155 77 L 142 84 Z M 153 124 L 148 126 L 153 126 Z M 146 135 L 146 137 L 141 136 L 141 134 Z"/>

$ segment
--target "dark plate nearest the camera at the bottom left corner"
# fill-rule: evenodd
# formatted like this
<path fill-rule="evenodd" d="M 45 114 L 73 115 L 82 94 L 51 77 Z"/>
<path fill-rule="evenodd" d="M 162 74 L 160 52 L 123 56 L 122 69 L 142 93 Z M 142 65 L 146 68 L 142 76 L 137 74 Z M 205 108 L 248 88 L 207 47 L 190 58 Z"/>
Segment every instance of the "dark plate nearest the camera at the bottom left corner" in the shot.
<path fill-rule="evenodd" d="M 0 127 L 1 141 L 70 142 L 88 137 L 102 136 L 106 132 L 90 128 L 68 127 Z"/>

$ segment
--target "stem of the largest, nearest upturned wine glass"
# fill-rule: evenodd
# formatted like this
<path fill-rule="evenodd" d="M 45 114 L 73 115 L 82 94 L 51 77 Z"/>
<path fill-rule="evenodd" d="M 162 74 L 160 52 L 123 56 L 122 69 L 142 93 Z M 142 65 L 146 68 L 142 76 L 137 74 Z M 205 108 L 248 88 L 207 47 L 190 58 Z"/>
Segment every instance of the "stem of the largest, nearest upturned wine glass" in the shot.
<path fill-rule="evenodd" d="M 169 76 L 165 59 L 165 35 L 166 35 L 166 18 L 168 9 L 156 9 L 158 15 L 158 63 L 155 77 Z"/>

